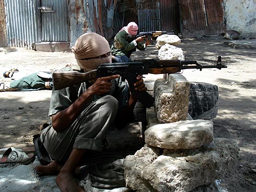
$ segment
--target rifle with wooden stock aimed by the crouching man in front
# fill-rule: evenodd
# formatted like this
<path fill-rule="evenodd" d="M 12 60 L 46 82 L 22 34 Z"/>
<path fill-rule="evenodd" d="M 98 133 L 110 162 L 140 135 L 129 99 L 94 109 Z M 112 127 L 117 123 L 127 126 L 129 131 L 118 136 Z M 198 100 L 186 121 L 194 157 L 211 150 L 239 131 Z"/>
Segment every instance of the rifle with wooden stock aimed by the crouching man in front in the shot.
<path fill-rule="evenodd" d="M 216 65 L 200 65 L 197 61 L 189 60 L 142 60 L 139 62 L 127 63 L 106 63 L 101 64 L 97 69 L 89 72 L 79 71 L 55 71 L 52 73 L 53 85 L 56 90 L 63 89 L 71 85 L 86 82 L 88 80 L 111 75 L 120 75 L 129 83 L 132 94 L 135 94 L 138 100 L 145 107 L 154 106 L 154 98 L 147 91 L 135 91 L 133 84 L 137 81 L 138 75 L 166 74 L 176 73 L 184 69 L 199 69 L 205 68 L 227 68 L 221 64 L 221 56 L 218 56 Z"/>

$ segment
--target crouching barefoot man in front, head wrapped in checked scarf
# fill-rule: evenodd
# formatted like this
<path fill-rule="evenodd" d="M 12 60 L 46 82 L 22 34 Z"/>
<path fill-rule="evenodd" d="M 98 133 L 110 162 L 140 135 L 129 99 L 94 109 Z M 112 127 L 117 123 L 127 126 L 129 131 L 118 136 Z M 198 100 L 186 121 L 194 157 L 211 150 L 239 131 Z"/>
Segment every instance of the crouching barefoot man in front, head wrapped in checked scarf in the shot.
<path fill-rule="evenodd" d="M 96 33 L 81 35 L 72 52 L 84 72 L 111 63 L 112 59 L 108 41 Z M 139 92 L 147 90 L 142 76 L 137 76 L 132 86 Z M 120 127 L 132 121 L 136 102 L 136 95 L 130 93 L 126 82 L 117 74 L 60 90 L 53 86 L 48 113 L 52 125 L 42 129 L 40 139 L 54 161 L 36 166 L 36 172 L 58 175 L 56 183 L 62 191 L 84 191 L 75 179 L 77 166 L 84 158 L 90 158 L 90 152 L 102 151 L 109 126 L 117 123 Z M 121 181 L 125 187 L 123 177 Z"/>

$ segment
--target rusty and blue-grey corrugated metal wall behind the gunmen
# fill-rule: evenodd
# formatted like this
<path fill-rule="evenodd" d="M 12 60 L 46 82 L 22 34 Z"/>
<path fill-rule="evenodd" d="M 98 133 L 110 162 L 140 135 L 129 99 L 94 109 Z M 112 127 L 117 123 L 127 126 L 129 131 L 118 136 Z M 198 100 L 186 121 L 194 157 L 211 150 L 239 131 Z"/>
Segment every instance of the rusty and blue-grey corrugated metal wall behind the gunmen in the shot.
<path fill-rule="evenodd" d="M 4 1 L 8 45 L 33 48 L 33 44 L 41 42 L 41 17 L 37 9 L 40 7 L 40 2 L 40 0 Z M 78 36 L 86 32 L 99 33 L 106 39 L 112 38 L 131 21 L 138 23 L 139 31 L 174 30 L 178 33 L 181 23 L 181 34 L 184 37 L 216 34 L 224 28 L 221 3 L 222 0 L 69 0 L 70 15 L 67 20 L 70 23 L 70 47 L 75 44 Z M 181 22 L 178 21 L 179 6 Z M 47 18 L 47 20 L 51 19 Z M 53 24 L 58 22 L 54 20 Z M 54 31 L 56 34 L 48 34 L 43 40 L 55 36 L 58 41 L 62 41 L 60 37 L 64 34 L 63 30 Z"/>

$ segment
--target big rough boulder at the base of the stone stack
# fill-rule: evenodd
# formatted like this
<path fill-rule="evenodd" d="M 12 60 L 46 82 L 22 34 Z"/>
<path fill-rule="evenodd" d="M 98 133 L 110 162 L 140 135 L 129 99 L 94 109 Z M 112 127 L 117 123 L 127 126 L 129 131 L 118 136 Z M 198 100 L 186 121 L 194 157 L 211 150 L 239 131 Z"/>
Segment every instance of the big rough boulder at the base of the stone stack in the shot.
<path fill-rule="evenodd" d="M 215 138 L 192 150 L 144 146 L 124 160 L 126 186 L 138 192 L 187 192 L 223 179 L 235 169 L 239 147 L 234 140 Z"/>

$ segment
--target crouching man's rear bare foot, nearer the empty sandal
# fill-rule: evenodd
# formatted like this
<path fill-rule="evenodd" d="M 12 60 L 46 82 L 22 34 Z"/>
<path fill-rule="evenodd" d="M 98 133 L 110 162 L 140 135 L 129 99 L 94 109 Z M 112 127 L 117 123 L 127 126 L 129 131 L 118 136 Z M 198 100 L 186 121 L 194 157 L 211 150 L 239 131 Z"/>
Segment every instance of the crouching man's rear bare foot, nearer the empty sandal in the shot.
<path fill-rule="evenodd" d="M 63 165 L 60 165 L 56 160 L 48 165 L 38 165 L 35 167 L 35 171 L 39 176 L 44 175 L 58 175 Z"/>

